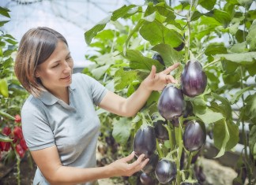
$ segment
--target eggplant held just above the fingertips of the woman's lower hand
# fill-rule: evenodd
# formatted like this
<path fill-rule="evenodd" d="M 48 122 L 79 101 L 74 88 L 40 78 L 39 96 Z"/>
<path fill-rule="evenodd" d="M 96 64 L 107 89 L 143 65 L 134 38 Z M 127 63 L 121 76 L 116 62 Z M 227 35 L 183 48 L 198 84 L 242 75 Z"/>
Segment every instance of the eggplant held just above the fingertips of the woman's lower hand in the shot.
<path fill-rule="evenodd" d="M 135 156 L 145 154 L 145 158 L 150 158 L 156 150 L 156 134 L 151 126 L 141 127 L 137 130 L 134 137 Z"/>

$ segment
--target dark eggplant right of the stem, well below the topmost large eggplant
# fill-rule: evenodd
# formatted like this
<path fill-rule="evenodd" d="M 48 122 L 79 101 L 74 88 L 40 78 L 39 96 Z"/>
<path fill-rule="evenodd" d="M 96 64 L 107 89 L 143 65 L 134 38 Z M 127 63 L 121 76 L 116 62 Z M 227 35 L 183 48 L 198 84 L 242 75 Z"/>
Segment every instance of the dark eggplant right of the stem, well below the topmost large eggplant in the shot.
<path fill-rule="evenodd" d="M 186 150 L 193 152 L 198 151 L 205 144 L 206 131 L 205 124 L 191 120 L 186 124 L 183 133 L 183 143 Z"/>

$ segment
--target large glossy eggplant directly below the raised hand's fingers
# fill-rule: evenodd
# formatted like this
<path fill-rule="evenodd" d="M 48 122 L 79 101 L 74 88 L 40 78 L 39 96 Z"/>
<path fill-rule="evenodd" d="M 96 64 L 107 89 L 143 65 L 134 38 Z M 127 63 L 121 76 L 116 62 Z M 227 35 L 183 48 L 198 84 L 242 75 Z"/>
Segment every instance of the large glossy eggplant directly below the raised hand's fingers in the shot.
<path fill-rule="evenodd" d="M 166 120 L 172 120 L 183 113 L 184 98 L 183 92 L 174 86 L 164 88 L 160 94 L 157 109 Z"/>

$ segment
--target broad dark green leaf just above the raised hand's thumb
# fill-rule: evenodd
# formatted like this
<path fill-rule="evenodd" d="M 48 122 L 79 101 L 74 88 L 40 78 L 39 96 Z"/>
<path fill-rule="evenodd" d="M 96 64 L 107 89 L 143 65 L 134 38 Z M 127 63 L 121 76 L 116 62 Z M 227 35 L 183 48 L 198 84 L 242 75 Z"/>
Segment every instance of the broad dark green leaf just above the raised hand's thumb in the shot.
<path fill-rule="evenodd" d="M 143 69 L 148 72 L 151 71 L 152 65 L 156 66 L 157 72 L 160 72 L 163 68 L 159 61 L 144 57 L 138 50 L 127 50 L 124 57 L 130 61 L 130 68 Z"/>

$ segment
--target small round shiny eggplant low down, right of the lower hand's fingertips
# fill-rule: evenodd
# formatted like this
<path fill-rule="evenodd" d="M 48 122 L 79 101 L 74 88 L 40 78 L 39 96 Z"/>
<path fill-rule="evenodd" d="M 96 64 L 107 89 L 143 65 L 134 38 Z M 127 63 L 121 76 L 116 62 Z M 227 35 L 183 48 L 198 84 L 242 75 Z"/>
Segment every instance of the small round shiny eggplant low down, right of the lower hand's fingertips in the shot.
<path fill-rule="evenodd" d="M 170 161 L 168 159 L 161 159 L 156 165 L 156 179 L 160 183 L 169 183 L 171 180 L 176 178 L 177 175 L 177 167 L 175 162 Z"/>

